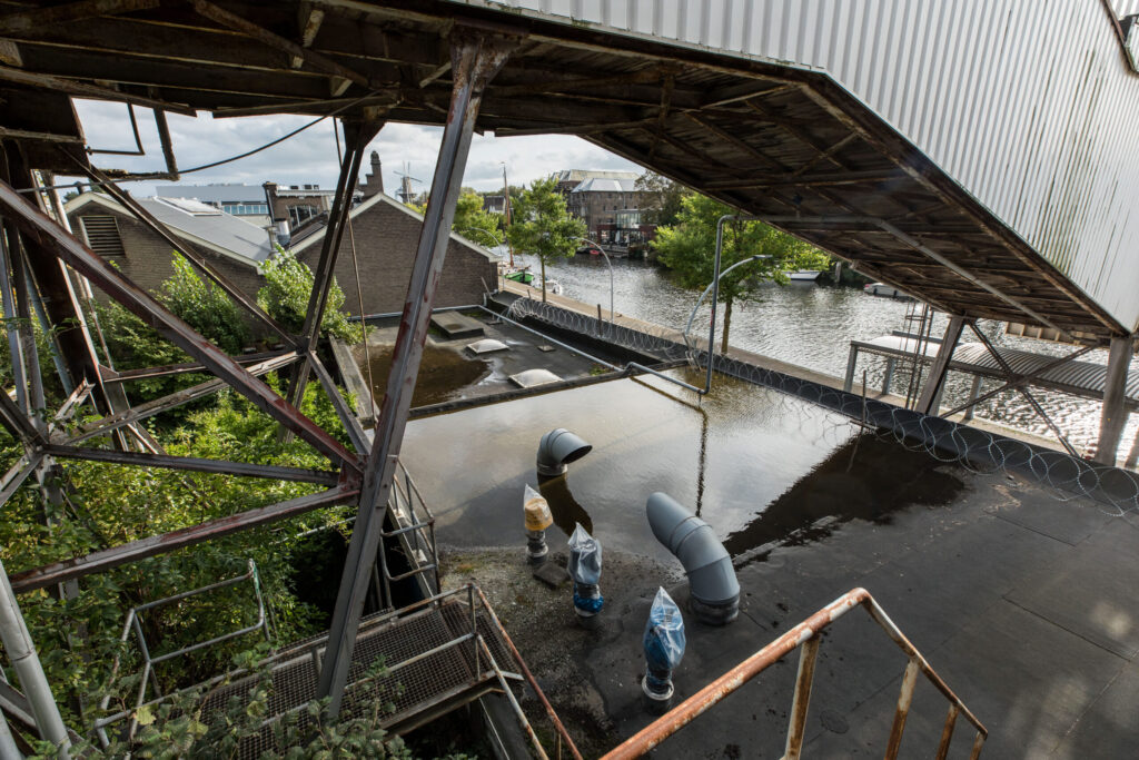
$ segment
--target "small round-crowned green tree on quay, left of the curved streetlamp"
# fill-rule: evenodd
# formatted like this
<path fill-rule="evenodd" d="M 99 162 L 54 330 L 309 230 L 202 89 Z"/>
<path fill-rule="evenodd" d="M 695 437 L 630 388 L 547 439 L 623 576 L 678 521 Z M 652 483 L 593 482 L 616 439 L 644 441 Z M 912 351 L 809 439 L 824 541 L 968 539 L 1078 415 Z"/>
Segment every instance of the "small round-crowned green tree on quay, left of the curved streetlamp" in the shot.
<path fill-rule="evenodd" d="M 542 263 L 542 301 L 546 301 L 546 264 L 558 258 L 570 258 L 577 250 L 577 239 L 585 235 L 585 222 L 571 216 L 566 199 L 555 189 L 551 177 L 534 180 L 523 190 L 514 209 L 514 222 L 507 237 L 515 251 L 538 256 Z"/>

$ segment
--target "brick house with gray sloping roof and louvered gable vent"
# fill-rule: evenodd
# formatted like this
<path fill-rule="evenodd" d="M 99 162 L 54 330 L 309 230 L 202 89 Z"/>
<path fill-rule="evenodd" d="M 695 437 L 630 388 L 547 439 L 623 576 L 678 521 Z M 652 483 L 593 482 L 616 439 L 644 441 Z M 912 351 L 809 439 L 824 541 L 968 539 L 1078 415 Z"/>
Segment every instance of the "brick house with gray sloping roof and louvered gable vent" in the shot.
<path fill-rule="evenodd" d="M 191 244 L 235 285 L 256 295 L 257 268 L 272 252 L 268 231 L 196 201 L 139 198 L 139 203 L 175 239 Z M 83 193 L 64 210 L 75 237 L 142 288 L 157 293 L 174 273 L 170 245 L 107 195 Z"/>

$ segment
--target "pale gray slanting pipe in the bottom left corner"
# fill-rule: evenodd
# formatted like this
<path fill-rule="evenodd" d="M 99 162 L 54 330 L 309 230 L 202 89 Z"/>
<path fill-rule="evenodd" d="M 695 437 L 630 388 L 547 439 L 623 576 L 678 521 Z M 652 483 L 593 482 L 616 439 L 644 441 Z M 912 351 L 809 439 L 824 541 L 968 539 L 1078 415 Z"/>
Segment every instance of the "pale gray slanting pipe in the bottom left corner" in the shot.
<path fill-rule="evenodd" d="M 3 644 L 9 662 L 19 676 L 19 685 L 32 706 L 35 726 L 40 729 L 41 736 L 56 746 L 56 757 L 67 760 L 71 757 L 67 751 L 71 747 L 67 728 L 59 716 L 59 708 L 51 694 L 48 678 L 43 675 L 43 665 L 40 664 L 35 645 L 32 644 L 32 635 L 19 612 L 16 595 L 11 590 L 11 583 L 8 582 L 8 573 L 5 572 L 2 563 L 0 563 L 0 643 Z"/>

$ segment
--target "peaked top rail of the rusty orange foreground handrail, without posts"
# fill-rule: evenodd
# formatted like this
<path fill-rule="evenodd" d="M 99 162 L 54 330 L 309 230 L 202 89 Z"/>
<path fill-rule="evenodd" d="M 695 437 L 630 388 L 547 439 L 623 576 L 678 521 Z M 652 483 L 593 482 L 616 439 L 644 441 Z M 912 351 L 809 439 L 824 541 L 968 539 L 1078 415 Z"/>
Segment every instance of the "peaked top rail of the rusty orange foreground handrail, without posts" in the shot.
<path fill-rule="evenodd" d="M 862 606 L 870 614 L 876 623 L 886 635 L 906 653 L 915 668 L 926 677 L 926 679 L 952 704 L 960 710 L 960 714 L 968 720 L 977 730 L 977 738 L 974 746 L 980 751 L 989 735 L 976 716 L 965 706 L 945 681 L 934 671 L 921 653 L 915 648 L 904 634 L 898 629 L 894 621 L 878 606 L 870 593 L 865 588 L 855 588 L 838 597 L 822 610 L 819 610 L 810 618 L 798 623 L 765 647 L 735 665 L 699 692 L 688 697 L 675 708 L 657 718 L 655 721 L 642 728 L 634 736 L 630 737 L 618 746 L 606 753 L 603 760 L 634 760 L 648 753 L 661 742 L 672 736 L 681 728 L 690 724 L 699 716 L 707 712 L 712 706 L 724 700 L 728 695 L 741 688 L 749 680 L 773 665 L 784 656 L 793 652 L 804 641 L 817 637 L 836 620 L 853 610 Z"/>

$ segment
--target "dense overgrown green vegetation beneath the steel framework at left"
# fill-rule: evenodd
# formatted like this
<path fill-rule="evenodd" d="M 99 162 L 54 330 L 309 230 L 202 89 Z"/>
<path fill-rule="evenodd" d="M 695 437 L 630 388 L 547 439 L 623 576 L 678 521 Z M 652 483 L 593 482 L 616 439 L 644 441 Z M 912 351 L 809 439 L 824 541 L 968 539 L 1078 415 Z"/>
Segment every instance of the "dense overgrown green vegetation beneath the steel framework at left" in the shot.
<path fill-rule="evenodd" d="M 311 288 L 308 267 L 280 254 L 272 267 L 265 302 L 278 318 L 300 305 L 303 313 Z M 300 293 L 303 291 L 303 299 Z M 338 295 L 337 295 L 338 294 Z M 243 314 L 228 296 L 204 283 L 175 255 L 174 273 L 157 297 L 175 314 L 227 351 L 240 352 L 253 340 Z M 341 310 L 343 294 L 330 299 L 325 326 L 334 334 L 347 326 Z M 188 361 L 180 350 L 163 340 L 117 304 L 99 307 L 103 332 L 110 358 L 120 369 Z M 282 320 L 284 321 L 284 320 Z M 298 324 L 295 322 L 296 326 Z M 353 330 L 349 337 L 354 337 Z M 46 378 L 54 374 L 47 336 L 39 335 Z M 0 342 L 7 350 L 7 341 Z M 104 357 L 108 360 L 107 357 Z M 9 377 L 10 377 L 10 361 Z M 133 403 L 171 392 L 174 386 L 200 382 L 204 375 L 178 375 L 163 381 L 132 381 Z M 265 376 L 281 391 L 282 379 Z M 47 387 L 47 417 L 63 402 L 60 387 Z M 285 440 L 279 426 L 243 397 L 224 391 L 182 408 L 181 416 L 146 423 L 155 441 L 172 456 L 252 461 L 306 469 L 328 469 L 328 460 L 306 443 Z M 310 384 L 301 410 L 346 447 L 350 446 L 330 400 L 319 384 Z M 80 410 L 76 419 L 60 427 L 68 433 L 89 422 Z M 84 446 L 108 448 L 109 436 L 84 441 Z M 0 432 L 2 467 L 10 467 L 24 453 L 23 447 Z M 56 487 L 59 487 L 58 489 Z M 146 537 L 224 518 L 248 509 L 278 504 L 322 490 L 323 487 L 273 479 L 238 477 L 158 468 L 132 467 L 85 460 L 64 460 L 48 472 L 43 484 L 30 481 L 5 505 L 0 521 L 0 559 L 9 574 L 69 559 Z M 62 495 L 51 498 L 51 495 Z M 49 684 L 65 721 L 81 735 L 90 736 L 91 720 L 100 714 L 99 697 L 112 694 L 108 710 L 133 709 L 137 675 L 141 660 L 133 635 L 120 644 L 128 610 L 146 602 L 240 575 L 253 559 L 260 572 L 261 590 L 269 611 L 276 644 L 311 636 L 327 627 L 327 611 L 298 593 L 296 579 L 304 574 L 304 557 L 313 538 L 350 531 L 347 508 L 318 509 L 245 532 L 216 537 L 194 547 L 132 562 L 82 578 L 77 586 L 60 593 L 49 587 L 24 593 L 19 604 L 40 653 Z M 161 654 L 214 638 L 252 624 L 257 604 L 251 583 L 194 597 L 177 605 L 148 610 L 140 623 L 151 654 Z M 246 634 L 221 645 L 175 657 L 156 668 L 163 693 L 190 687 L 228 669 L 235 656 L 253 646 L 261 632 Z M 122 655 L 122 677 L 112 677 L 112 663 Z M 15 672 L 5 671 L 9 680 Z M 153 685 L 150 695 L 154 694 Z M 189 700 L 174 700 L 150 714 L 145 724 L 136 757 L 233 757 L 233 736 L 253 730 L 264 717 L 268 694 L 253 695 L 243 706 L 245 718 L 221 714 L 222 722 L 195 718 Z M 383 702 L 377 702 L 377 709 Z M 260 716 L 259 716 L 260 711 Z M 316 711 L 316 712 L 313 712 Z M 310 705 L 314 720 L 284 721 L 274 732 L 272 757 L 405 757 L 405 747 L 379 729 L 378 712 L 355 716 L 333 724 L 321 718 L 321 705 Z M 151 720 L 153 719 L 153 720 Z M 239 720 L 238 720 L 239 719 Z M 236 721 L 236 722 L 235 722 Z M 243 722 L 244 721 L 244 722 Z M 208 725 L 207 725 L 208 724 Z M 290 727 L 292 726 L 292 727 Z M 311 729 L 311 730 L 310 730 Z M 122 757 L 116 745 L 103 757 Z M 47 753 L 44 757 L 54 757 Z M 92 754 L 90 757 L 99 757 Z"/>

